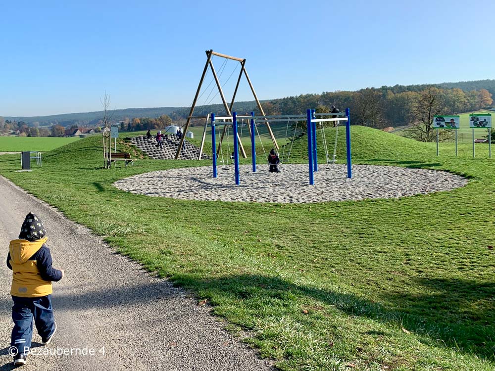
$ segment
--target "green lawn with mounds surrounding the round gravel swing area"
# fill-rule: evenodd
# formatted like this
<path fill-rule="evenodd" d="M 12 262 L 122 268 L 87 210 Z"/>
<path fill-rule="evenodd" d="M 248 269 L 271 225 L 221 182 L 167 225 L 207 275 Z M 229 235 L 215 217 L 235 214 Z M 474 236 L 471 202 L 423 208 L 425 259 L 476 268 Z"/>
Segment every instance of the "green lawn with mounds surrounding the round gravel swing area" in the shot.
<path fill-rule="evenodd" d="M 0 173 L 207 300 L 280 370 L 493 371 L 495 173 L 487 146 L 473 159 L 471 145 L 460 144 L 456 158 L 447 155 L 453 144 L 441 143 L 446 154 L 436 157 L 435 143 L 351 130 L 354 163 L 445 170 L 470 183 L 300 205 L 150 198 L 112 183 L 210 162 L 143 159 L 104 170 L 99 136 L 50 151 L 31 173 L 16 173 L 17 156 L 4 155 Z M 330 142 L 334 133 L 326 130 Z M 305 140 L 294 143 L 293 161 L 306 161 Z"/>

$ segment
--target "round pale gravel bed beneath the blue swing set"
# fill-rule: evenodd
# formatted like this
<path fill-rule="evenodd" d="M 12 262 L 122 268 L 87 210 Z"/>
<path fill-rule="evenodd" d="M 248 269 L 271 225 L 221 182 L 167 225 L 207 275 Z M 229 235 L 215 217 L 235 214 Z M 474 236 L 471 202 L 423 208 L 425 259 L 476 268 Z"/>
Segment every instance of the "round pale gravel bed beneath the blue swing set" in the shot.
<path fill-rule="evenodd" d="M 311 203 L 396 198 L 468 183 L 444 171 L 374 165 L 353 165 L 352 179 L 348 179 L 346 165 L 319 165 L 310 186 L 307 165 L 283 165 L 278 174 L 268 172 L 267 166 L 258 169 L 253 173 L 251 165 L 242 165 L 239 186 L 235 185 L 233 165 L 219 166 L 216 179 L 210 166 L 202 166 L 140 174 L 114 185 L 133 193 L 180 199 Z"/>

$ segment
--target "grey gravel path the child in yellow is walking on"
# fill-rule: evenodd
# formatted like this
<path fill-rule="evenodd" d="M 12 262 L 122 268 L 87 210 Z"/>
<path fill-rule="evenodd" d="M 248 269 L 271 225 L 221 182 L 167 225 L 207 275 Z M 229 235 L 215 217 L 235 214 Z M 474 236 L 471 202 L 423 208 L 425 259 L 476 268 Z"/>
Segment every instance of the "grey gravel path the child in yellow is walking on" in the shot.
<path fill-rule="evenodd" d="M 28 370 L 272 370 L 232 338 L 188 292 L 152 278 L 112 252 L 87 229 L 0 177 L 1 316 L 0 370 L 11 370 L 11 272 L 8 242 L 24 216 L 38 214 L 48 231 L 54 266 L 66 277 L 53 284 L 57 334 L 48 346 L 33 336 L 34 349 L 94 348 L 96 355 L 32 355 Z M 105 355 L 99 353 L 104 347 Z"/>

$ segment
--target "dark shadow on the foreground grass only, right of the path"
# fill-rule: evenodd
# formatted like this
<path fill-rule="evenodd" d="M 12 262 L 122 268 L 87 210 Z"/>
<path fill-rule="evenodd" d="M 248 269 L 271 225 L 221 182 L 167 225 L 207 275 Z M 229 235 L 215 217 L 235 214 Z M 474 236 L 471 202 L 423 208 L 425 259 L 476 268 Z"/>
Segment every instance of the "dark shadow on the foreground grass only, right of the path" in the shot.
<path fill-rule="evenodd" d="M 194 290 L 204 290 L 213 297 L 236 298 L 243 302 L 255 297 L 262 303 L 278 302 L 278 308 L 288 296 L 320 301 L 351 316 L 360 316 L 404 327 L 416 333 L 420 341 L 430 346 L 445 346 L 466 354 L 495 361 L 495 282 L 480 283 L 467 280 L 420 279 L 431 295 L 413 296 L 407 293 L 388 295 L 394 308 L 362 299 L 354 294 L 324 290 L 291 283 L 277 277 L 257 275 L 231 276 L 196 281 L 183 277 L 176 283 Z M 484 305 L 482 303 L 485 303 Z M 242 304 L 241 304 L 242 305 Z M 281 313 L 281 316 L 290 315 Z M 262 321 L 261 321 L 262 322 Z"/>

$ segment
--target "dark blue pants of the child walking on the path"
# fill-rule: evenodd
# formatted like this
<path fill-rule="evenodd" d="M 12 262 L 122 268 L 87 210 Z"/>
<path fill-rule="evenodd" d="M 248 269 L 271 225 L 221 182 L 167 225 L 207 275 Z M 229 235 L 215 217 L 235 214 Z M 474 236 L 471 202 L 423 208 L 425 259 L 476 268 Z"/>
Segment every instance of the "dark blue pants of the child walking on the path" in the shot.
<path fill-rule="evenodd" d="M 33 337 L 33 321 L 38 333 L 43 339 L 48 338 L 55 330 L 51 294 L 38 298 L 21 298 L 12 296 L 12 338 L 10 346 L 15 346 L 18 353 L 25 353 L 24 349 L 31 348 Z"/>

